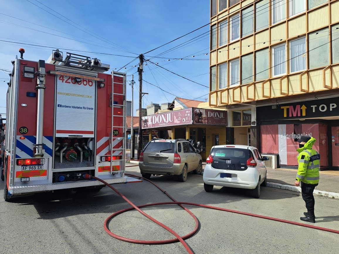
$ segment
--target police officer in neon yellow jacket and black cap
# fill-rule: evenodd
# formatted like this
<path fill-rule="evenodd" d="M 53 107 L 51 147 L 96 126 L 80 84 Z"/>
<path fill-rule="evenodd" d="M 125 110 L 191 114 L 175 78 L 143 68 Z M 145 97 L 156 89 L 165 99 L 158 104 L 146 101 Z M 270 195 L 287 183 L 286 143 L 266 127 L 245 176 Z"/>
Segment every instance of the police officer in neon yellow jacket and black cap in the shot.
<path fill-rule="evenodd" d="M 316 142 L 314 137 L 301 136 L 298 142 L 298 172 L 295 186 L 301 185 L 301 196 L 307 208 L 307 212 L 304 212 L 305 217 L 300 219 L 315 223 L 313 191 L 319 183 L 320 155 L 312 149 Z"/>

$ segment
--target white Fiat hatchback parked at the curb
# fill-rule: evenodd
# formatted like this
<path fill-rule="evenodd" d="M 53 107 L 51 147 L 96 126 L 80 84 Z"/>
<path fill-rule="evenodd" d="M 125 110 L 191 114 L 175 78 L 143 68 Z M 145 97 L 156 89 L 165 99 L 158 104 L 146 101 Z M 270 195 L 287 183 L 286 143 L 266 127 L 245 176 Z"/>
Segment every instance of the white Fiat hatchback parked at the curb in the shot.
<path fill-rule="evenodd" d="M 267 160 L 253 146 L 214 146 L 203 174 L 205 191 L 212 191 L 214 185 L 252 189 L 253 197 L 258 198 L 260 185 L 266 186 Z"/>

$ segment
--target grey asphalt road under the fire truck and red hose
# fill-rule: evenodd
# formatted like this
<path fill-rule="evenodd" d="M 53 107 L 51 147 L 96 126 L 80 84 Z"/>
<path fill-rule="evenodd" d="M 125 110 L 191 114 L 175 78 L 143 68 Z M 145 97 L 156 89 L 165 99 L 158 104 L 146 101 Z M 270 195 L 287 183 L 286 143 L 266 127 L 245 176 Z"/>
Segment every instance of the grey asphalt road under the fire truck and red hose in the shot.
<path fill-rule="evenodd" d="M 128 171 L 137 173 L 138 167 Z M 241 189 L 215 188 L 207 193 L 202 175 L 189 174 L 185 183 L 169 176 L 151 179 L 178 201 L 298 222 L 305 211 L 303 200 L 296 192 L 262 187 L 260 199 L 255 199 Z M 137 205 L 170 201 L 147 182 L 115 187 Z M 339 230 L 339 200 L 319 196 L 315 199 L 315 225 Z M 137 245 L 109 236 L 103 229 L 104 220 L 127 207 L 108 187 L 99 192 L 38 193 L 13 199 L 11 203 L 1 198 L 0 253 L 185 253 L 180 243 Z M 334 233 L 229 212 L 188 208 L 201 223 L 197 234 L 186 240 L 195 253 L 339 253 L 339 237 Z M 180 235 L 194 228 L 193 218 L 176 205 L 143 210 Z M 135 239 L 174 238 L 136 211 L 117 216 L 109 228 Z"/>

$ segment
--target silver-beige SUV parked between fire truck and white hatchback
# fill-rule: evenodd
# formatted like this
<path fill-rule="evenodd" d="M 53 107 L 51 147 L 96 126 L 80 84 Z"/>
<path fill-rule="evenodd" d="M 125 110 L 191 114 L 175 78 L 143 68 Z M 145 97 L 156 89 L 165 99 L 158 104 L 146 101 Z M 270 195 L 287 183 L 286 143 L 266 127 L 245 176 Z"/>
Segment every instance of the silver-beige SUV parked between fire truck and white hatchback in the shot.
<path fill-rule="evenodd" d="M 186 182 L 187 173 L 200 174 L 202 160 L 199 150 L 183 139 L 151 140 L 139 157 L 140 173 L 149 179 L 151 175 L 178 175 L 178 180 Z"/>

